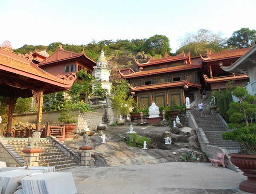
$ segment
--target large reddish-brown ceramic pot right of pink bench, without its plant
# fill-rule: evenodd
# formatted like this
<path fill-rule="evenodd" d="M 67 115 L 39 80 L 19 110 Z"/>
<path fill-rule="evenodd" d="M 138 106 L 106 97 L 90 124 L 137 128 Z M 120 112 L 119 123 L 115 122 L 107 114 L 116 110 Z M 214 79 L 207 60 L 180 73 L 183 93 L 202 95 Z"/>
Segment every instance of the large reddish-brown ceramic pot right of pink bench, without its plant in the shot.
<path fill-rule="evenodd" d="M 229 155 L 233 165 L 243 171 L 244 176 L 247 176 L 247 180 L 240 182 L 239 189 L 249 193 L 256 193 L 256 156 L 238 153 L 230 153 Z"/>

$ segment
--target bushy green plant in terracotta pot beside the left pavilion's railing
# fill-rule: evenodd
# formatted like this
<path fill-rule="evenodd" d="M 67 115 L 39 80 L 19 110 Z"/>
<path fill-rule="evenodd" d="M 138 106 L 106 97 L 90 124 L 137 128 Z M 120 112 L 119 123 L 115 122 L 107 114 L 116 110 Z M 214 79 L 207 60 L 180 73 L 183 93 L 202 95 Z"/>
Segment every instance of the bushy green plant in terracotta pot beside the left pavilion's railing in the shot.
<path fill-rule="evenodd" d="M 77 123 L 78 121 L 74 119 L 75 116 L 78 116 L 77 114 L 73 114 L 72 110 L 75 110 L 76 107 L 71 101 L 65 101 L 64 104 L 61 105 L 61 116 L 58 118 L 60 122 L 63 122 L 65 125 L 65 138 L 72 138 L 70 133 L 76 128 L 76 125 L 74 123 Z"/>

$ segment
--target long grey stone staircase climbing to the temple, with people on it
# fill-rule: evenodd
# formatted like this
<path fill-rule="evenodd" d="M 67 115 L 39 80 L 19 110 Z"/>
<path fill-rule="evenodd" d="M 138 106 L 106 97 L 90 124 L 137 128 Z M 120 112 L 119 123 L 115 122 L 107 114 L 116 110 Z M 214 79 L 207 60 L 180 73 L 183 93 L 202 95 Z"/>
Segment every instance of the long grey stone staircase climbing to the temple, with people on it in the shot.
<path fill-rule="evenodd" d="M 220 122 L 217 115 L 211 114 L 209 101 L 202 101 L 204 104 L 204 116 L 201 116 L 199 112 L 199 101 L 202 101 L 202 98 L 199 98 L 195 103 L 193 103 L 194 106 L 191 107 L 191 114 L 194 116 L 198 127 L 201 127 L 204 130 L 210 145 L 226 148 L 230 153 L 237 152 L 237 150 L 240 149 L 237 142 L 222 139 L 221 134 L 224 131 L 227 131 L 227 127 Z"/>

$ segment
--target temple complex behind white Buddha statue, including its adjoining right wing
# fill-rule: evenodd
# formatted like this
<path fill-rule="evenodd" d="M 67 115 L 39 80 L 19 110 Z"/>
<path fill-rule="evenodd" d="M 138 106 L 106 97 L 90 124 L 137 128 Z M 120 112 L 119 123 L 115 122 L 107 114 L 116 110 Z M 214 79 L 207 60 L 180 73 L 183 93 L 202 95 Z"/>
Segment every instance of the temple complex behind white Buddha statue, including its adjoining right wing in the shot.
<path fill-rule="evenodd" d="M 139 72 L 132 69 L 119 70 L 122 78 L 129 81 L 131 92 L 136 97 L 138 108 L 148 108 L 152 102 L 157 106 L 185 104 L 201 96 L 202 90 L 225 89 L 228 81 L 242 86 L 249 81 L 249 76 L 224 71 L 222 67 L 234 64 L 250 48 L 206 54 L 194 58 L 190 52 L 169 56 L 166 52 L 161 59 L 152 59 L 140 63 L 135 59 Z"/>

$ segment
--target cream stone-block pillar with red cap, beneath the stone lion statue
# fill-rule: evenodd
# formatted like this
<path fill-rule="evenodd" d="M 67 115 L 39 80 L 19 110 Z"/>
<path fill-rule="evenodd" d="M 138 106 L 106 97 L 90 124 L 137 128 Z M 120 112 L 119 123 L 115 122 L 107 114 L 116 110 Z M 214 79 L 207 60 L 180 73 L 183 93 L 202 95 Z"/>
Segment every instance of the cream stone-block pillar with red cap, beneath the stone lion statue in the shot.
<path fill-rule="evenodd" d="M 41 153 L 43 150 L 40 148 L 25 148 L 22 150 L 23 153 L 26 153 L 25 159 L 24 159 L 24 166 L 38 166 L 39 162 L 39 153 Z"/>

